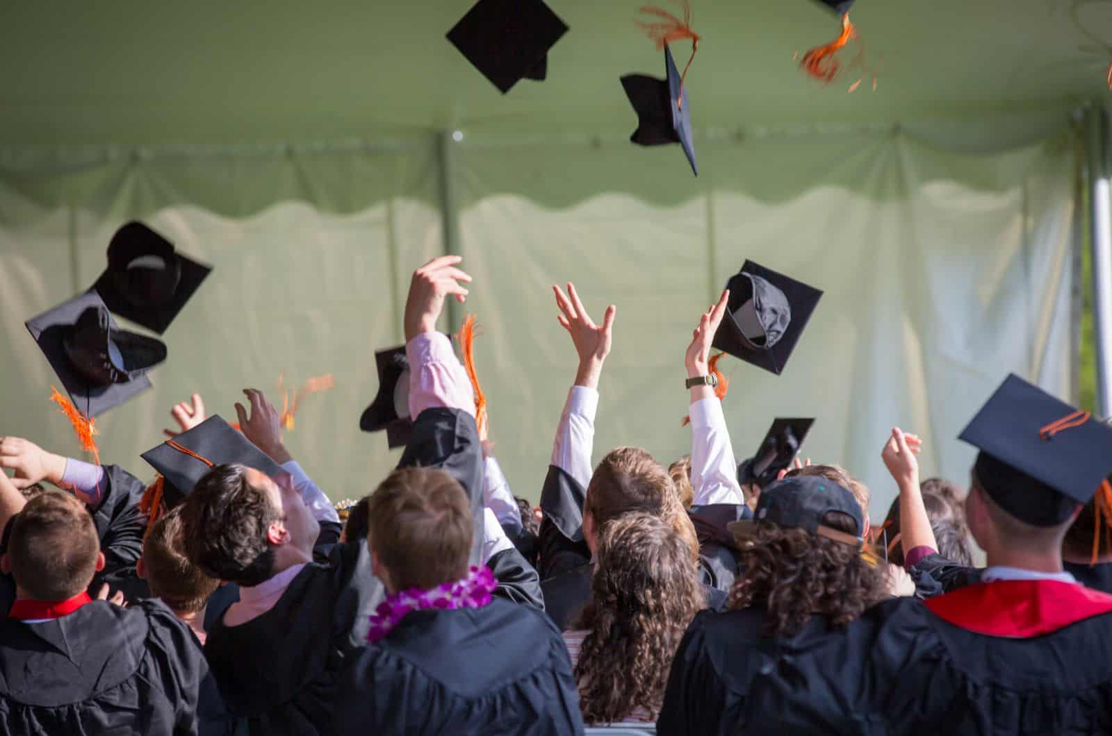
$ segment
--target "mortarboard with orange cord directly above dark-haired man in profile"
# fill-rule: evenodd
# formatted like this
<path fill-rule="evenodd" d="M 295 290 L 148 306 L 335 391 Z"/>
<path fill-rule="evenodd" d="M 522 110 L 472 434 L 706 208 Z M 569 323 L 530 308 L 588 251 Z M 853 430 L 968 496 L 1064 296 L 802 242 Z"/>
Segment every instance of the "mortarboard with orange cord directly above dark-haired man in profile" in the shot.
<path fill-rule="evenodd" d="M 147 450 L 141 457 L 165 479 L 168 507 L 185 500 L 193 486 L 217 465 L 246 465 L 271 478 L 286 474 L 270 456 L 217 415 Z"/>

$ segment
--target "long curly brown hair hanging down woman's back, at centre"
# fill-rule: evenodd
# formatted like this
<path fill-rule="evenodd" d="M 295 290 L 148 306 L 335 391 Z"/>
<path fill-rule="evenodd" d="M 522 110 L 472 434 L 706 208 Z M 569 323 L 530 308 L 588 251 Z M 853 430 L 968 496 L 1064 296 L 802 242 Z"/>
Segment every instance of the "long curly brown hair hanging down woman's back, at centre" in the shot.
<path fill-rule="evenodd" d="M 596 555 L 590 601 L 574 623 L 588 629 L 575 678 L 586 723 L 655 715 L 672 657 L 703 608 L 687 544 L 668 520 L 638 511 L 610 521 Z"/>

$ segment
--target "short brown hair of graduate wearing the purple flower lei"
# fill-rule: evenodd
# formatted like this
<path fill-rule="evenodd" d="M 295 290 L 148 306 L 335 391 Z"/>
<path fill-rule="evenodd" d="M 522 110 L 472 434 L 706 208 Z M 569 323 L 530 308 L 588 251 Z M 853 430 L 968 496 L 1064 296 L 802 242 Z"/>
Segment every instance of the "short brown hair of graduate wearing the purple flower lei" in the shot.
<path fill-rule="evenodd" d="M 428 589 L 467 575 L 475 536 L 463 486 L 444 470 L 395 470 L 370 496 L 370 548 L 396 590 Z"/>

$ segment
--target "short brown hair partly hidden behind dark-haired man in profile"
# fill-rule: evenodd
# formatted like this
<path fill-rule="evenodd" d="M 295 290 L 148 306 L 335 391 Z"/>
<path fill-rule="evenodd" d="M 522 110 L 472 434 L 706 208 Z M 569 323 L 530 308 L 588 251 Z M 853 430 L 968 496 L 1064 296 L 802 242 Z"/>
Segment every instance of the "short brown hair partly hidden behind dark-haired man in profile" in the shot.
<path fill-rule="evenodd" d="M 220 581 L 186 557 L 181 506 L 170 509 L 142 540 L 143 574 L 150 591 L 176 614 L 195 614 L 208 603 Z"/>

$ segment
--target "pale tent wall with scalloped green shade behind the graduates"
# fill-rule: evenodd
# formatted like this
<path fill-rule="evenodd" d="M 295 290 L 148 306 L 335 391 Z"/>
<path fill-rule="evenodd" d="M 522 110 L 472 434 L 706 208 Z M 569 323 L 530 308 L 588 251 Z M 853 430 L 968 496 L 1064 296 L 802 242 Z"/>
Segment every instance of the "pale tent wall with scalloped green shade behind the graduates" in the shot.
<path fill-rule="evenodd" d="M 456 247 L 475 277 L 457 317 L 478 315 L 492 439 L 515 493 L 537 498 L 574 377 L 550 286 L 574 281 L 595 316 L 618 307 L 595 460 L 637 445 L 667 464 L 691 449 L 681 427 L 691 330 L 749 258 L 825 296 L 783 376 L 722 364 L 738 460 L 774 417 L 814 416 L 804 454 L 861 477 L 880 517 L 894 494 L 880 463 L 893 426 L 924 437 L 925 474 L 965 483 L 972 450 L 955 438 L 1007 372 L 1072 397 L 1075 141 L 1062 128 L 1002 152 L 891 129 L 712 138 L 698 155 L 715 175 L 697 181 L 678 149 L 625 141 L 468 138 L 448 167 L 428 140 L 51 166 L 9 151 L 0 432 L 76 451 L 23 320 L 92 284 L 112 231 L 142 217 L 216 270 L 168 330 L 155 390 L 98 422 L 105 460 L 150 476 L 139 452 L 193 390 L 231 420 L 245 386 L 332 372 L 337 388 L 305 402 L 288 444 L 334 498 L 371 490 L 397 452 L 359 432 L 358 417 L 377 385 L 375 349 L 400 341 L 409 271 L 445 248 L 447 170 Z"/>

